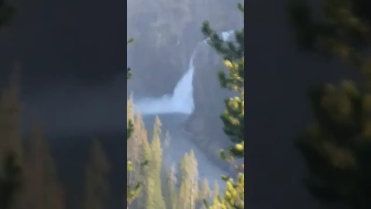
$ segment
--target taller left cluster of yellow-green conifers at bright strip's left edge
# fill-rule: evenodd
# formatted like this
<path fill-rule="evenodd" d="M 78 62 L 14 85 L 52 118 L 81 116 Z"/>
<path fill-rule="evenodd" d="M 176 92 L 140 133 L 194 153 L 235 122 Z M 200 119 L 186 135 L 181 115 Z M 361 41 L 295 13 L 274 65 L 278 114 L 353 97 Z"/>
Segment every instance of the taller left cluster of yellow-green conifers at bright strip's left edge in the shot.
<path fill-rule="evenodd" d="M 162 197 L 160 178 L 161 122 L 156 117 L 153 139 L 148 142 L 147 131 L 144 129 L 140 113 L 138 112 L 134 117 L 132 99 L 131 96 L 127 101 L 127 119 L 133 121 L 134 128 L 127 140 L 127 159 L 129 160 L 127 163 L 129 168 L 127 202 L 132 203 L 136 197 L 139 197 L 140 200 L 135 203 L 138 208 L 164 209 L 165 202 Z"/>

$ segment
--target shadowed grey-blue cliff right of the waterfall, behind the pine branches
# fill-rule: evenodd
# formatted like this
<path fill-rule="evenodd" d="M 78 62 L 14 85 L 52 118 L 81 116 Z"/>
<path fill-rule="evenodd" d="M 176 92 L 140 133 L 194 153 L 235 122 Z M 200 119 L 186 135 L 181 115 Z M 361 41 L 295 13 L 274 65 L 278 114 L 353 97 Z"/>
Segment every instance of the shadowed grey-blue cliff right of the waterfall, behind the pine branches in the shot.
<path fill-rule="evenodd" d="M 184 125 L 196 144 L 210 160 L 229 169 L 230 164 L 219 157 L 219 149 L 231 145 L 223 132 L 220 114 L 224 111 L 223 100 L 234 93 L 220 87 L 217 71 L 224 70 L 221 56 L 207 44 L 198 47 L 194 59 L 193 98 L 195 109 Z"/>

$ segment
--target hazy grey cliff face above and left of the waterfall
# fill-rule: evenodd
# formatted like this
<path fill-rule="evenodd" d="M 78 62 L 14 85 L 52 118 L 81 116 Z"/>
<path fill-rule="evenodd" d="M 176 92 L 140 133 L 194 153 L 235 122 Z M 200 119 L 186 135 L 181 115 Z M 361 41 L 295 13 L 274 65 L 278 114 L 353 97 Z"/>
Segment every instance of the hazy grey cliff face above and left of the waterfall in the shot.
<path fill-rule="evenodd" d="M 188 70 L 197 43 L 204 39 L 204 20 L 210 20 L 218 31 L 242 24 L 237 2 L 129 0 L 127 36 L 134 37 L 135 42 L 127 48 L 127 65 L 135 74 L 128 82 L 127 93 L 134 91 L 139 97 L 171 93 Z"/>

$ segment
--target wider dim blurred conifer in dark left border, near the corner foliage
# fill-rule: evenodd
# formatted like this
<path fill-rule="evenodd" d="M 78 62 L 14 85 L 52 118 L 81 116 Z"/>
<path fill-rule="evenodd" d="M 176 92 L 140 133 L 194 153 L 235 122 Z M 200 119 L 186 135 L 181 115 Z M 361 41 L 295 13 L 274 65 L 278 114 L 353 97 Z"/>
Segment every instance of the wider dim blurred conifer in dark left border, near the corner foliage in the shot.
<path fill-rule="evenodd" d="M 65 202 L 54 161 L 39 123 L 34 123 L 29 138 L 26 162 L 26 200 L 29 209 L 64 209 Z"/>

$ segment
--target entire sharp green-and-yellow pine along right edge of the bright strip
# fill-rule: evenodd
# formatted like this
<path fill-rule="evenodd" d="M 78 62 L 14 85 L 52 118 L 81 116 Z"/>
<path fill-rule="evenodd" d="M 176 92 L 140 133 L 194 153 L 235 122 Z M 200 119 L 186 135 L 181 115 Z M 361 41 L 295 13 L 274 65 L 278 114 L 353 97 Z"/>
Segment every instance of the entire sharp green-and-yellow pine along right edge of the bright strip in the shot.
<path fill-rule="evenodd" d="M 244 14 L 244 6 L 238 4 L 238 9 Z M 223 56 L 224 64 L 228 68 L 229 76 L 220 71 L 219 81 L 222 87 L 236 91 L 240 96 L 224 100 L 226 111 L 220 116 L 224 123 L 224 132 L 236 143 L 229 148 L 229 156 L 223 150 L 220 155 L 223 159 L 232 161 L 234 157 L 244 157 L 244 28 L 234 31 L 234 41 L 223 41 L 217 33 L 212 30 L 208 22 L 203 23 L 202 32 L 210 38 L 209 44 Z M 238 168 L 244 172 L 244 164 Z M 218 196 L 213 200 L 210 208 L 243 209 L 244 208 L 244 173 L 239 173 L 237 182 L 234 183 L 230 177 L 222 177 L 226 181 L 227 189 L 224 198 Z M 204 201 L 207 205 L 207 201 Z"/>

